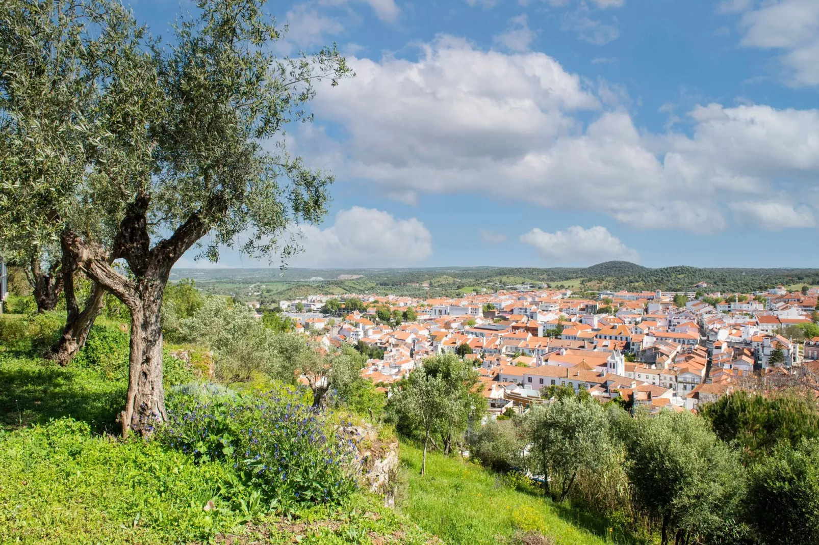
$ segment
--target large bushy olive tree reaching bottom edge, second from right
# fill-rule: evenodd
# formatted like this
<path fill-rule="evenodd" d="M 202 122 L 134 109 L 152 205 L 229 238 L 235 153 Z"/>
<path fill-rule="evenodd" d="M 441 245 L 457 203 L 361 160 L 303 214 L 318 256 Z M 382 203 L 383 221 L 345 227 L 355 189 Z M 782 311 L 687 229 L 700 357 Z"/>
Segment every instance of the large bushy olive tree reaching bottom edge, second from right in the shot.
<path fill-rule="evenodd" d="M 621 432 L 637 507 L 658 522 L 663 545 L 672 536 L 675 543 L 744 542 L 742 464 L 704 419 L 663 411 Z"/>

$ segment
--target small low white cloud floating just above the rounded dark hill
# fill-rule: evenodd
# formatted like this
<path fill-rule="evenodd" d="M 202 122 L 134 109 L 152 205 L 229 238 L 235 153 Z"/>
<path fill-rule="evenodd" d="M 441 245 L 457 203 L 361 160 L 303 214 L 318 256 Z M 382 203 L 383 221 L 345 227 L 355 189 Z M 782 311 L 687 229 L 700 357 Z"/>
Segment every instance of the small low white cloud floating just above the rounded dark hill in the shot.
<path fill-rule="evenodd" d="M 605 227 L 584 229 L 579 225 L 565 231 L 543 232 L 535 228 L 520 236 L 520 241 L 537 250 L 547 263 L 572 263 L 589 265 L 623 259 L 638 263 L 640 255 L 623 244 Z"/>

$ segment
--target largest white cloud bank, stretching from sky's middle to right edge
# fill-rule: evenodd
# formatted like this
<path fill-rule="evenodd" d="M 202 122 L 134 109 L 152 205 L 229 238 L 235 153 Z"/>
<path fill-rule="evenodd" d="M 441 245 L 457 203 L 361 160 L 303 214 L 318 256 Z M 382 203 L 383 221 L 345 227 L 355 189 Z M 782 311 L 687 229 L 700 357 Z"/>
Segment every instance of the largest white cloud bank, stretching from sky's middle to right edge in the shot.
<path fill-rule="evenodd" d="M 708 104 L 680 114 L 688 133 L 650 133 L 540 52 L 441 36 L 417 61 L 348 61 L 356 78 L 314 104 L 344 137 L 312 126 L 299 146 L 406 203 L 469 191 L 701 233 L 724 229 L 731 203 L 799 187 L 819 203 L 819 110 Z"/>

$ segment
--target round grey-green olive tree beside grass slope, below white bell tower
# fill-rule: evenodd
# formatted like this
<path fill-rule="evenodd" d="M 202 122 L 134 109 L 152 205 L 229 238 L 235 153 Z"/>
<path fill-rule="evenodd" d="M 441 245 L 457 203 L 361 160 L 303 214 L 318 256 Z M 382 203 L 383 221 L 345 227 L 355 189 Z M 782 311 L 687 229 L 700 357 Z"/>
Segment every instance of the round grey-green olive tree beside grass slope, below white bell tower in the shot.
<path fill-rule="evenodd" d="M 563 501 L 578 471 L 598 471 L 611 456 L 609 418 L 600 403 L 575 397 L 538 405 L 527 414 L 530 468 Z"/>

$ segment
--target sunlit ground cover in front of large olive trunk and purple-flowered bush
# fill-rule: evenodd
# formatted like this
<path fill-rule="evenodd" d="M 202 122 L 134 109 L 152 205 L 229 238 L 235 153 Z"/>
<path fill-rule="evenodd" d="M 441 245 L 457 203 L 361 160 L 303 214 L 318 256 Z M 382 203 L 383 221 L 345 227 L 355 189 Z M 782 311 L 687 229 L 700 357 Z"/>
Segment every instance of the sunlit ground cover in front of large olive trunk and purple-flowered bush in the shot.
<path fill-rule="evenodd" d="M 241 509 L 220 484 L 232 468 L 195 464 L 159 444 L 92 435 L 83 422 L 0 432 L 0 543 L 426 543 L 417 526 L 355 494 L 341 506 L 317 506 L 291 519 L 268 516 L 243 525 Z M 213 509 L 206 510 L 208 502 Z M 376 541 L 375 543 L 378 543 Z"/>

